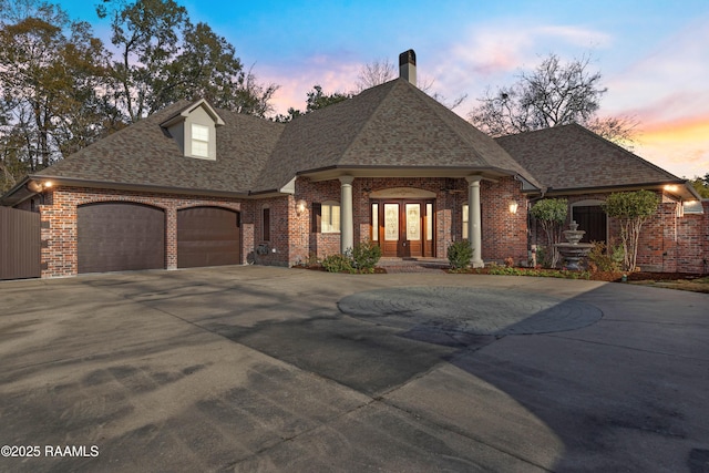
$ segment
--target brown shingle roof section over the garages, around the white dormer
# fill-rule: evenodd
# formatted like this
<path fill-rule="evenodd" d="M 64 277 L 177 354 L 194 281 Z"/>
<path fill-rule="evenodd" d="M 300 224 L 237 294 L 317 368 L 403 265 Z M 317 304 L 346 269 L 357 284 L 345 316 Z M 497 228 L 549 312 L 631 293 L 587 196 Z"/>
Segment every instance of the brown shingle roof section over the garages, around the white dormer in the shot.
<path fill-rule="evenodd" d="M 186 157 L 161 123 L 189 105 L 177 102 L 39 174 L 192 191 L 249 191 L 285 125 L 218 110 L 225 125 L 216 128 L 217 160 Z"/>

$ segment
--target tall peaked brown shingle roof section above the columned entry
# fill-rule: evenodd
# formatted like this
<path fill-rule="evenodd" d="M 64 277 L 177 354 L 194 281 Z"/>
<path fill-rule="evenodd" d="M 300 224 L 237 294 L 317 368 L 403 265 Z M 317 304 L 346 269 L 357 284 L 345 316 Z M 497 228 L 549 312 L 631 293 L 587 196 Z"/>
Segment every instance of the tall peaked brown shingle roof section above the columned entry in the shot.
<path fill-rule="evenodd" d="M 436 168 L 537 179 L 490 136 L 403 79 L 288 124 L 257 186 L 328 168 Z"/>

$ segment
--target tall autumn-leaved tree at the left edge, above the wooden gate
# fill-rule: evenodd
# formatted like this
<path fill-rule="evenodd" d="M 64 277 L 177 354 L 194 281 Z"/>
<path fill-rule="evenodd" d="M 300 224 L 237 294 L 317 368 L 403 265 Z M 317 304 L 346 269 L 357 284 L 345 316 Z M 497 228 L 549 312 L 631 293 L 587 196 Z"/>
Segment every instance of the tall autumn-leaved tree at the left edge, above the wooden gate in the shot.
<path fill-rule="evenodd" d="M 106 51 L 85 22 L 38 0 L 0 1 L 3 187 L 107 133 Z"/>

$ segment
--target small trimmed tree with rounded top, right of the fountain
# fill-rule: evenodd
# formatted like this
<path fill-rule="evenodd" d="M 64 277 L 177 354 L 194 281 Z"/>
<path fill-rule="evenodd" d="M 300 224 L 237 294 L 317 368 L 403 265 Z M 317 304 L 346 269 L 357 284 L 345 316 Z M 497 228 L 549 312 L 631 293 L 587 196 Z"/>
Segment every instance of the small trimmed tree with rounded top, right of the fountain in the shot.
<path fill-rule="evenodd" d="M 659 204 L 660 198 L 656 193 L 636 191 L 613 193 L 602 205 L 609 217 L 615 217 L 620 223 L 624 270 L 635 270 L 640 229 L 648 217 L 657 212 Z"/>

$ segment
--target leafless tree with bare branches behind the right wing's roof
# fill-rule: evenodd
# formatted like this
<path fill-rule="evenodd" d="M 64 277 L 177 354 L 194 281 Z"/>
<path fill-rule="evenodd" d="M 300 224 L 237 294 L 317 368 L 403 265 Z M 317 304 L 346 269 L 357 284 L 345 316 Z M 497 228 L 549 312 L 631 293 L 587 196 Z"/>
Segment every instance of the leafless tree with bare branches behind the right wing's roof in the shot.
<path fill-rule="evenodd" d="M 521 72 L 513 85 L 494 94 L 487 89 L 469 120 L 492 136 L 579 123 L 618 144 L 631 143 L 634 119 L 597 117 L 607 89 L 600 73 L 588 71 L 589 62 L 585 56 L 564 63 L 549 54 L 534 71 Z"/>

